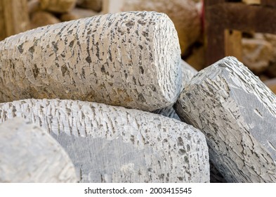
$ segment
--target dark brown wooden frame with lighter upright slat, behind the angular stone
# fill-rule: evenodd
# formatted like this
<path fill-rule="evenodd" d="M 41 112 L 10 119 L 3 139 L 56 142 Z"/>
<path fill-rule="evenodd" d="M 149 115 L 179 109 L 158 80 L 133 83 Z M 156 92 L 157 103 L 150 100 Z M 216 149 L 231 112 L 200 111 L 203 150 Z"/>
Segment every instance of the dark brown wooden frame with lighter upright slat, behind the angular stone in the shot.
<path fill-rule="evenodd" d="M 242 58 L 241 32 L 276 34 L 276 1 L 205 0 L 206 63 L 225 56 Z"/>

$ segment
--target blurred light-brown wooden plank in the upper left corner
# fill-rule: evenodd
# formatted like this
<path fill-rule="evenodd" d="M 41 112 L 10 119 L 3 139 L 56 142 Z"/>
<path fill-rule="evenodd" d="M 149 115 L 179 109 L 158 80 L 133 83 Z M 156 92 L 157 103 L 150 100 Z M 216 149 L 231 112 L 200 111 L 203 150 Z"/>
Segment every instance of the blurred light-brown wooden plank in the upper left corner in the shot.
<path fill-rule="evenodd" d="M 0 40 L 29 29 L 27 0 L 2 0 L 0 4 Z"/>

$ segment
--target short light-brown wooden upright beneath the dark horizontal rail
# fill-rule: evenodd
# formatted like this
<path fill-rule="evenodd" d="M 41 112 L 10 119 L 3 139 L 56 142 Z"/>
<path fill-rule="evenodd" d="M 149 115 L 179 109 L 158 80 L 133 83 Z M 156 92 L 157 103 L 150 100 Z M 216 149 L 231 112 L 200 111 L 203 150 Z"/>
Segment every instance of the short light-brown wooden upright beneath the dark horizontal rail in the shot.
<path fill-rule="evenodd" d="M 234 56 L 242 60 L 242 32 L 225 30 L 225 56 Z"/>

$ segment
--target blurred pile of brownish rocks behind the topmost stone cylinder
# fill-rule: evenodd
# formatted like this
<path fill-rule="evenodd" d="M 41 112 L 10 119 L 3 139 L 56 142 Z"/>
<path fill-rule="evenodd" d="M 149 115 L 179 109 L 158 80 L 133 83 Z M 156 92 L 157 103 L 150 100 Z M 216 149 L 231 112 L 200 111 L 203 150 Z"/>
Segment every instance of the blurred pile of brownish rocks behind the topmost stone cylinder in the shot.
<path fill-rule="evenodd" d="M 197 70 L 204 68 L 204 59 L 197 58 L 204 56 L 203 48 L 194 47 L 202 43 L 201 0 L 29 0 L 28 7 L 32 28 L 121 11 L 166 13 L 178 32 L 185 61 Z"/>

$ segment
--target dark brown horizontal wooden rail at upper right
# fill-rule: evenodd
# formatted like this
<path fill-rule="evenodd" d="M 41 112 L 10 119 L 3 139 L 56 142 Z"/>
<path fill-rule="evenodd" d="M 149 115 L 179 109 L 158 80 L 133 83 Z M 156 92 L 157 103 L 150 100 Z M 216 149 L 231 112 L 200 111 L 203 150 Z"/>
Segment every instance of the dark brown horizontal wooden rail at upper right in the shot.
<path fill-rule="evenodd" d="M 271 7 L 242 3 L 217 4 L 206 7 L 206 18 L 231 30 L 276 34 L 276 11 Z"/>

